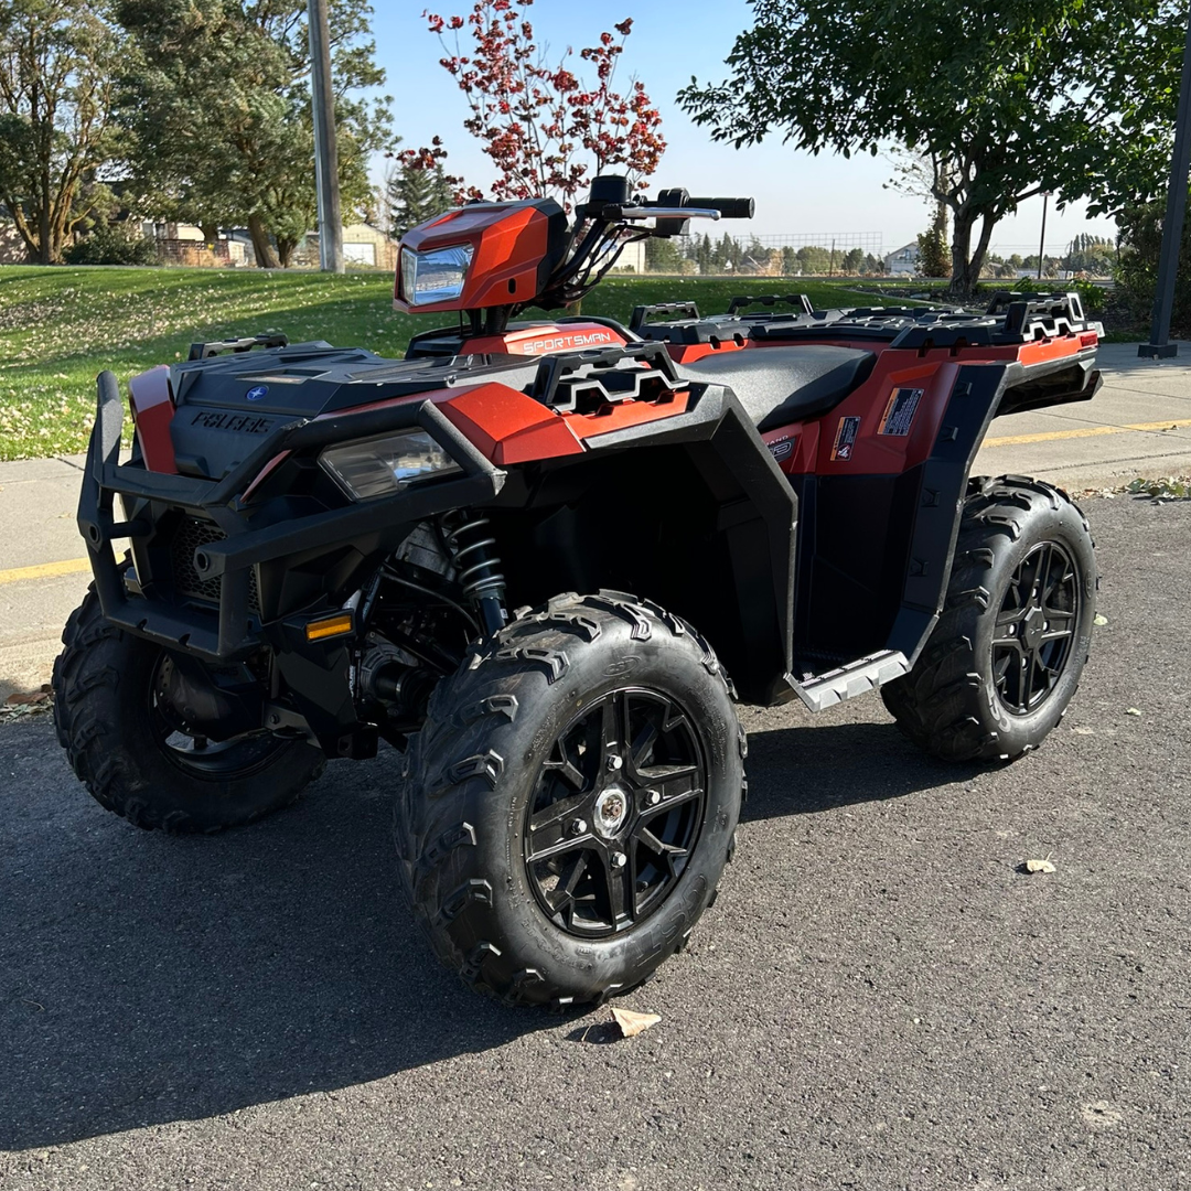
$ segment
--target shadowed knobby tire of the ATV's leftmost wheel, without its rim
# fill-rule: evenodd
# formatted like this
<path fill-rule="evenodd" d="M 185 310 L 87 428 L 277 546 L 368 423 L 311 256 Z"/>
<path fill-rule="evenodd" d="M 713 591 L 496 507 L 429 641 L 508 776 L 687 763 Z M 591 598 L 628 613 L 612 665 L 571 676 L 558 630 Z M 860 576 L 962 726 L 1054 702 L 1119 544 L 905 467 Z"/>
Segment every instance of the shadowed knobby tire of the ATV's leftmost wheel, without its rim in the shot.
<path fill-rule="evenodd" d="M 251 823 L 294 802 L 325 766 L 303 740 L 257 735 L 207 749 L 172 747 L 154 707 L 166 651 L 104 618 L 94 588 L 70 615 L 54 663 L 54 724 L 95 800 L 136 827 L 173 835 Z"/>

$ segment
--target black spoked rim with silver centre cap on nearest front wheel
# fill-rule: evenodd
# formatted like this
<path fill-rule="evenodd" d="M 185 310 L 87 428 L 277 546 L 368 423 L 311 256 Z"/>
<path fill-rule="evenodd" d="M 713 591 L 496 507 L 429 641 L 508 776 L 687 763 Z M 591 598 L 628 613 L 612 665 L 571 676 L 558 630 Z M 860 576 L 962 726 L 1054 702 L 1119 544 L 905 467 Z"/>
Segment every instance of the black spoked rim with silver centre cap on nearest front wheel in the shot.
<path fill-rule="evenodd" d="M 525 813 L 525 872 L 547 917 L 592 939 L 656 913 L 706 798 L 703 741 L 675 699 L 631 688 L 596 700 L 555 738 Z"/>

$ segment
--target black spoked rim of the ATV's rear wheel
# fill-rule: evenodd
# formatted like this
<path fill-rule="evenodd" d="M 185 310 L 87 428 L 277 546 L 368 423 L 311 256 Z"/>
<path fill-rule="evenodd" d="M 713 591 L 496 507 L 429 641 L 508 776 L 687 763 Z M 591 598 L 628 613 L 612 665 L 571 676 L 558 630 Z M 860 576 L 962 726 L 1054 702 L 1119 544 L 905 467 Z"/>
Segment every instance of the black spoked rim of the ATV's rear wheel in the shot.
<path fill-rule="evenodd" d="M 997 613 L 992 676 L 1011 715 L 1036 711 L 1066 669 L 1079 621 L 1079 575 L 1058 542 L 1040 542 L 1018 563 Z"/>

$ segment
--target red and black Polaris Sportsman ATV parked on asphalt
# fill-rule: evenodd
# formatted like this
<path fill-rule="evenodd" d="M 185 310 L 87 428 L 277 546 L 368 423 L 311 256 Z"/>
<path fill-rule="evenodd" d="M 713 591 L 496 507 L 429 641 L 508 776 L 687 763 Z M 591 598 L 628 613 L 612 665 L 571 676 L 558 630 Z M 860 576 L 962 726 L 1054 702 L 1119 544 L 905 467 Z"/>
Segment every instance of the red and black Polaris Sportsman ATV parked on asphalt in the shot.
<path fill-rule="evenodd" d="M 95 584 L 54 680 L 95 798 L 214 831 L 387 741 L 439 958 L 509 1002 L 581 1004 L 710 904 L 737 698 L 880 687 L 940 756 L 1040 744 L 1087 656 L 1092 541 L 1058 490 L 968 472 L 993 417 L 1095 394 L 1098 326 L 1071 294 L 511 322 L 576 301 L 626 241 L 724 214 L 752 201 L 617 177 L 574 227 L 550 200 L 451 211 L 406 236 L 395 305 L 457 326 L 404 360 L 195 344 L 131 382 L 125 464 L 101 374 Z"/>

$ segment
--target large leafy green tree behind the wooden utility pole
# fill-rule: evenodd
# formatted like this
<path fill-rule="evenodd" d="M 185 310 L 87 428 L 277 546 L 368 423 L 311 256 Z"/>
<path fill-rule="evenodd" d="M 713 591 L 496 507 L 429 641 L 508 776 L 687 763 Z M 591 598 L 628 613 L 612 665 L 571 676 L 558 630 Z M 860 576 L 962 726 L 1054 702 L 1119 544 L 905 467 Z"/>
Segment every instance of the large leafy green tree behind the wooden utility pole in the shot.
<path fill-rule="evenodd" d="M 370 12 L 366 0 L 332 0 L 329 13 L 345 212 L 370 202 L 368 155 L 389 143 L 391 100 L 358 96 L 385 79 Z M 289 263 L 316 216 L 305 13 L 304 0 L 117 0 L 137 48 L 121 112 L 138 183 L 208 235 L 247 225 L 267 267 Z"/>

